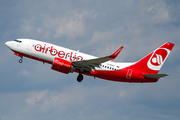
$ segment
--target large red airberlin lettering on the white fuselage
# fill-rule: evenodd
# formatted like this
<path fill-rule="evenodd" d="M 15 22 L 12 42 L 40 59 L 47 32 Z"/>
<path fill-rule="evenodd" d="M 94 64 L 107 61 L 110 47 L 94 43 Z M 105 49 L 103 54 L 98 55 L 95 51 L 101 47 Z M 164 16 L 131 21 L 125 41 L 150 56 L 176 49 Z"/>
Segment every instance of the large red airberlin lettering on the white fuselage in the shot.
<path fill-rule="evenodd" d="M 52 56 L 58 55 L 59 58 L 67 59 L 69 57 L 70 61 L 83 60 L 82 56 L 76 56 L 77 53 L 74 53 L 74 54 L 73 52 L 66 53 L 63 50 L 58 51 L 57 49 L 53 48 L 53 46 L 46 47 L 46 44 L 44 44 L 44 46 L 42 46 L 41 44 L 36 44 L 36 45 L 33 45 L 33 47 L 38 52 L 42 52 L 46 54 L 49 51 Z"/>

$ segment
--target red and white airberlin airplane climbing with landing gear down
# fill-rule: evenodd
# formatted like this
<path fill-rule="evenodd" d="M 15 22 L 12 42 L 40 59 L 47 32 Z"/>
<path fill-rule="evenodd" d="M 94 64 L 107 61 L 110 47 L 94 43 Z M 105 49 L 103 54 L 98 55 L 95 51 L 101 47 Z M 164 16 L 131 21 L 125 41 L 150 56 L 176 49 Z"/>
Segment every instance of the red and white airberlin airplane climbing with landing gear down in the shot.
<path fill-rule="evenodd" d="M 65 74 L 76 72 L 77 81 L 83 80 L 83 74 L 116 82 L 151 83 L 157 82 L 167 74 L 158 74 L 170 54 L 174 44 L 166 42 L 137 62 L 114 62 L 124 46 L 113 54 L 95 57 L 79 51 L 57 46 L 34 39 L 16 39 L 5 45 L 20 57 L 28 57 L 51 64 L 51 69 Z"/>

